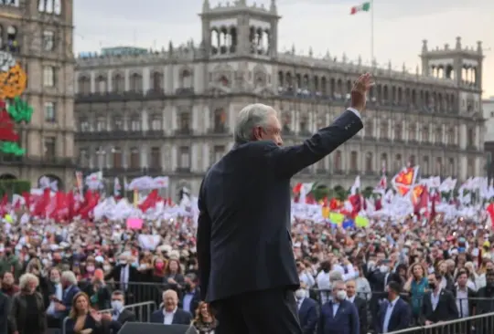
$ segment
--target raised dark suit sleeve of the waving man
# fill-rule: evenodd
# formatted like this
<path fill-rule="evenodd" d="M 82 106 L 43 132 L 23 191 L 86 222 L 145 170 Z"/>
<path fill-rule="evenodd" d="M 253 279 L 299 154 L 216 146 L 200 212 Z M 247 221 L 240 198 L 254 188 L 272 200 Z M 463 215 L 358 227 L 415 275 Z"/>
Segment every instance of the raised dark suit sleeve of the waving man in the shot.
<path fill-rule="evenodd" d="M 318 130 L 301 145 L 281 148 L 274 142 L 269 143 L 266 150 L 270 167 L 282 177 L 290 178 L 335 151 L 362 128 L 362 121 L 355 111 L 347 110 L 333 124 Z"/>

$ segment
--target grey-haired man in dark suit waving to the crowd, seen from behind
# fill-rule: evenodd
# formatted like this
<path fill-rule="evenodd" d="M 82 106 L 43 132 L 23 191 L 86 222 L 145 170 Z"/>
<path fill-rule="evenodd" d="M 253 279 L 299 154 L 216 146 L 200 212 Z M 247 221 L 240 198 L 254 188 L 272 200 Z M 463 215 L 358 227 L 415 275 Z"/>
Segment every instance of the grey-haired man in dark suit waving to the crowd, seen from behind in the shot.
<path fill-rule="evenodd" d="M 290 179 L 362 129 L 370 75 L 351 91 L 351 108 L 301 145 L 282 148 L 276 111 L 242 109 L 235 145 L 206 174 L 199 191 L 201 296 L 223 333 L 299 334 L 300 285 L 290 235 Z"/>

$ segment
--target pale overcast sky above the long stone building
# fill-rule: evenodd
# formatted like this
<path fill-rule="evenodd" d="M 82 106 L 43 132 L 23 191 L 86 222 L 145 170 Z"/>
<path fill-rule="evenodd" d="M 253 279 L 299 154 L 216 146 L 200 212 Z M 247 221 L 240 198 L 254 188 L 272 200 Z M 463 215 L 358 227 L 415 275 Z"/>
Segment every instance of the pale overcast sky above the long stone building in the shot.
<path fill-rule="evenodd" d="M 341 58 L 345 53 L 364 62 L 370 59 L 370 14 L 349 16 L 352 5 L 365 0 L 278 0 L 280 50 L 295 45 L 297 52 Z M 233 1 L 231 1 L 232 3 Z M 269 6 L 270 0 L 257 4 Z M 199 42 L 202 0 L 77 0 L 74 1 L 76 52 L 101 47 L 179 45 Z M 218 0 L 209 0 L 217 5 Z M 222 1 L 225 3 L 225 1 Z M 252 0 L 248 0 L 252 4 Z M 494 96 L 494 1 L 492 0 L 375 0 L 374 55 L 382 67 L 403 63 L 410 71 L 419 65 L 422 40 L 429 47 L 464 45 L 486 48 L 484 98 Z"/>

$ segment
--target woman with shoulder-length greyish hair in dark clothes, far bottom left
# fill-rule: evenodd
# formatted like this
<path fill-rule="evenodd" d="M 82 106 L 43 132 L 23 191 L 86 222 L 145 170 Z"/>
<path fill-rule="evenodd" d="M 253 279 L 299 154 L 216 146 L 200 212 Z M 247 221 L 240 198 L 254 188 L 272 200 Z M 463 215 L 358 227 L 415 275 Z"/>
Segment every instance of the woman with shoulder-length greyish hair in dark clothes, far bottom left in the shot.
<path fill-rule="evenodd" d="M 12 333 L 43 334 L 47 330 L 47 316 L 43 296 L 37 291 L 39 279 L 24 274 L 19 279 L 19 293 L 12 297 L 9 323 Z"/>

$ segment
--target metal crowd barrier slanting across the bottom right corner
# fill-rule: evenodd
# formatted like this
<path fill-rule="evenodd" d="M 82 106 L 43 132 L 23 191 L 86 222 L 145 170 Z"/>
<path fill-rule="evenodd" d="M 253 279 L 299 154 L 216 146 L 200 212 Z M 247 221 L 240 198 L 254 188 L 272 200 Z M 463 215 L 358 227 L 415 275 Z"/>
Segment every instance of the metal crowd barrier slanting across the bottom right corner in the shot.
<path fill-rule="evenodd" d="M 390 332 L 390 334 L 492 334 L 494 312 L 478 316 L 458 318 L 428 326 L 413 327 Z"/>

